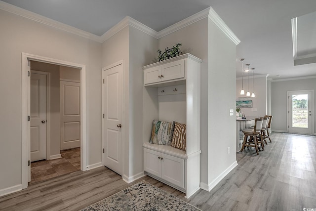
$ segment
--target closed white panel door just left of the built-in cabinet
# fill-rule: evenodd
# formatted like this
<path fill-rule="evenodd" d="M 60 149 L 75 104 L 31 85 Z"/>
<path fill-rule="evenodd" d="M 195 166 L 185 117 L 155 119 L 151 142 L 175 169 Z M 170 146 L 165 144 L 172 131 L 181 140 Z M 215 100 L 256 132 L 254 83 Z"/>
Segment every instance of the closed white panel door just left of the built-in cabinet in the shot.
<path fill-rule="evenodd" d="M 103 69 L 103 163 L 122 175 L 123 64 Z"/>

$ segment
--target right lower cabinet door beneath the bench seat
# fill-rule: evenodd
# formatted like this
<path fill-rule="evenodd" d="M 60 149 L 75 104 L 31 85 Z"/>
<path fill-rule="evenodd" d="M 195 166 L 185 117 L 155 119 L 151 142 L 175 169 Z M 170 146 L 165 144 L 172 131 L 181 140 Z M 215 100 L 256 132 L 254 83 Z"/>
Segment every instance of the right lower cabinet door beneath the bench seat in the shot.
<path fill-rule="evenodd" d="M 184 188 L 184 160 L 162 154 L 161 178 Z"/>

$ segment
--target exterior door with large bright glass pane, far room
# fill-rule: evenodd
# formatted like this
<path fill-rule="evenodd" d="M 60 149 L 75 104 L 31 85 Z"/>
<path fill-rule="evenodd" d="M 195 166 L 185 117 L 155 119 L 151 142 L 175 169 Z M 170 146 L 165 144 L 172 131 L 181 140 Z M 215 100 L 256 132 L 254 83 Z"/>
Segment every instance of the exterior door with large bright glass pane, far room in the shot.
<path fill-rule="evenodd" d="M 312 91 L 289 91 L 288 102 L 289 132 L 312 134 Z"/>

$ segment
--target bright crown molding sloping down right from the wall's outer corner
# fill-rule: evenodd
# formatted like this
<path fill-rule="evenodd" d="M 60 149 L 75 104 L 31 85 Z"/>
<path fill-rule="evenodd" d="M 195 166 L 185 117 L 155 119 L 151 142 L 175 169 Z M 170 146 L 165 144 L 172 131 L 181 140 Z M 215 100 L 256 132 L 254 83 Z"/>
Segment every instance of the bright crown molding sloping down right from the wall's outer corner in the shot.
<path fill-rule="evenodd" d="M 234 34 L 234 32 L 226 25 L 222 18 L 215 12 L 212 7 L 209 7 L 208 18 L 215 23 L 215 25 L 222 30 L 222 32 L 236 45 L 240 43 L 240 40 Z"/>

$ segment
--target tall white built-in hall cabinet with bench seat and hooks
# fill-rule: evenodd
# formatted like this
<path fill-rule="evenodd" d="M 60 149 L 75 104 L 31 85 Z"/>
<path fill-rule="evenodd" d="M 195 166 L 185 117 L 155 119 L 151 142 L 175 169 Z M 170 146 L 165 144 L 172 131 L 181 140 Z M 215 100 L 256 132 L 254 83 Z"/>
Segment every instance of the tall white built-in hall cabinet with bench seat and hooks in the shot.
<path fill-rule="evenodd" d="M 200 186 L 199 58 L 184 54 L 144 69 L 144 171 L 192 196 Z M 149 143 L 154 120 L 187 124 L 186 151 Z"/>

